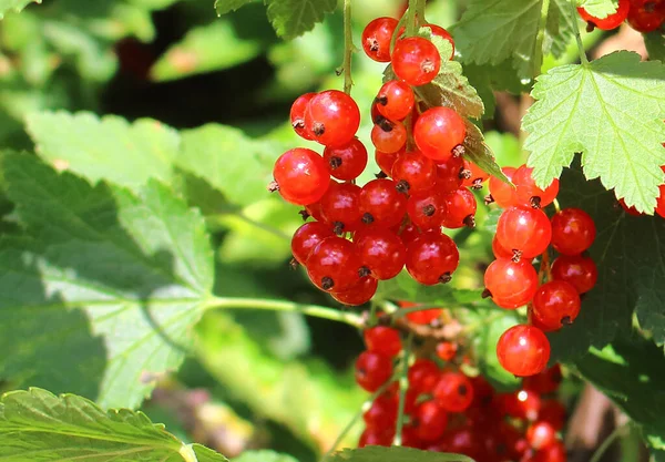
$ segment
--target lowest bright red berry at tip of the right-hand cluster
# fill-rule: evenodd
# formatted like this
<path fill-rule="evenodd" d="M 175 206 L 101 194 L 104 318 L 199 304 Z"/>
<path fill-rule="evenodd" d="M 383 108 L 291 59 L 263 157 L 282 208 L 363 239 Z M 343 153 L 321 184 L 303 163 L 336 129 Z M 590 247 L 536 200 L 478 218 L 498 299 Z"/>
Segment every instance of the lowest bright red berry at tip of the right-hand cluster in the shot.
<path fill-rule="evenodd" d="M 518 377 L 542 372 L 550 360 L 550 340 L 536 327 L 514 326 L 499 338 L 497 357 L 503 368 Z"/>

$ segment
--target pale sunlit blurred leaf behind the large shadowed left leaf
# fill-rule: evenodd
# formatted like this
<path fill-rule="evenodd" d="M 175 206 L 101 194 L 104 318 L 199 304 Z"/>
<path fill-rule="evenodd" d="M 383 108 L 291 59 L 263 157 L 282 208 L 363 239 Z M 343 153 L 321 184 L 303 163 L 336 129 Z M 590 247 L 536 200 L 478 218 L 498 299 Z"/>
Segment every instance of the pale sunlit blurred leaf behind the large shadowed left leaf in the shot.
<path fill-rule="evenodd" d="M 86 112 L 32 114 L 28 132 L 38 154 L 58 170 L 133 191 L 150 178 L 170 183 L 180 146 L 178 134 L 157 121 L 130 124 L 114 115 L 99 119 Z"/>

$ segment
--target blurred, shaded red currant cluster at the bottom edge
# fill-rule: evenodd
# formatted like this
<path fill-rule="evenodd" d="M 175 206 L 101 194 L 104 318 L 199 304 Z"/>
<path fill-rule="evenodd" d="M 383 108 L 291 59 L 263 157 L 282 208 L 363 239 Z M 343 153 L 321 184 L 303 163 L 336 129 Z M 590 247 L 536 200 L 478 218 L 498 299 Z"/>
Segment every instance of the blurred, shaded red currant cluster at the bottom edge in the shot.
<path fill-rule="evenodd" d="M 397 330 L 382 326 L 365 330 L 364 337 L 367 350 L 356 362 L 356 380 L 379 394 L 364 413 L 358 445 L 390 445 L 399 414 L 392 362 L 401 340 Z M 467 377 L 457 366 L 459 356 L 457 345 L 444 341 L 437 347 L 437 361 L 419 358 L 409 366 L 403 445 L 461 453 L 478 462 L 566 460 L 557 437 L 565 422 L 565 408 L 555 396 L 562 380 L 559 366 L 525 378 L 518 391 L 499 393 L 482 376 Z"/>

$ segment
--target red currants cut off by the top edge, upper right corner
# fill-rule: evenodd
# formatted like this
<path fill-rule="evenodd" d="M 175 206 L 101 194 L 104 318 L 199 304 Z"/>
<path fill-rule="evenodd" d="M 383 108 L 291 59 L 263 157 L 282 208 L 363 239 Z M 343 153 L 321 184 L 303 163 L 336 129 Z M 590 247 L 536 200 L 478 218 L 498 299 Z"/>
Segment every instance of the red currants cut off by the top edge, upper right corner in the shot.
<path fill-rule="evenodd" d="M 607 31 L 626 21 L 636 31 L 647 33 L 663 25 L 665 0 L 618 0 L 616 12 L 603 19 L 589 14 L 583 7 L 579 7 L 577 12 L 587 22 L 590 30 L 598 28 Z"/>

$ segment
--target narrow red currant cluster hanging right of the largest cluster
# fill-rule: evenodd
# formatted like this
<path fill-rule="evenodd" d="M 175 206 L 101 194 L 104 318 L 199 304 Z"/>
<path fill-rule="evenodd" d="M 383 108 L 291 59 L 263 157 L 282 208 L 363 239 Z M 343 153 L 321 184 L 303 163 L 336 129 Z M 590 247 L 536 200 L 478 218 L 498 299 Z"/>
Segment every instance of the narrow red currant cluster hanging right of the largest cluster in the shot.
<path fill-rule="evenodd" d="M 497 346 L 501 365 L 519 377 L 545 368 L 550 342 L 543 332 L 572 324 L 580 312 L 580 295 L 597 279 L 595 264 L 583 255 L 595 239 L 593 218 L 580 208 L 564 208 L 549 218 L 542 207 L 555 201 L 559 181 L 541 189 L 531 171 L 525 165 L 504 167 L 515 187 L 491 178 L 488 196 L 503 212 L 492 242 L 497 259 L 484 274 L 485 296 L 505 309 L 529 305 L 530 325 L 507 330 Z M 560 254 L 551 268 L 550 246 Z M 539 256 L 541 276 L 548 280 L 542 285 L 532 264 Z"/>

